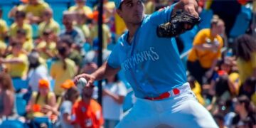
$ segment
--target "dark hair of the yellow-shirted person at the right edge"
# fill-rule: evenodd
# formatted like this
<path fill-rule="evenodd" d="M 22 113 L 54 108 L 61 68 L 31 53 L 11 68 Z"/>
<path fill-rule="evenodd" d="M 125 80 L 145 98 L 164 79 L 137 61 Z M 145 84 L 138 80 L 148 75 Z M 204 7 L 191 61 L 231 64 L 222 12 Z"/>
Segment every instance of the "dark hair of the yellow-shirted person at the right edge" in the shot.
<path fill-rule="evenodd" d="M 235 39 L 235 55 L 237 58 L 249 61 L 252 52 L 256 51 L 256 41 L 252 36 L 244 34 Z"/>

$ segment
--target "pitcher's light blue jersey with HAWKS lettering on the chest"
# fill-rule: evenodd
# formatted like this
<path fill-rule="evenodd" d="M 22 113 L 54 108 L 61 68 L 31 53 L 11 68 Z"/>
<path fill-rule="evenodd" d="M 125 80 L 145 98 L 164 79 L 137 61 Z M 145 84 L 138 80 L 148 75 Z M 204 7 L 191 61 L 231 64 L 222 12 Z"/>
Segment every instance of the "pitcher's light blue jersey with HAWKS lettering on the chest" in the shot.
<path fill-rule="evenodd" d="M 175 39 L 156 35 L 156 27 L 170 20 L 173 7 L 145 16 L 132 43 L 124 33 L 107 60 L 110 67 L 124 70 L 136 97 L 158 97 L 186 82 Z"/>

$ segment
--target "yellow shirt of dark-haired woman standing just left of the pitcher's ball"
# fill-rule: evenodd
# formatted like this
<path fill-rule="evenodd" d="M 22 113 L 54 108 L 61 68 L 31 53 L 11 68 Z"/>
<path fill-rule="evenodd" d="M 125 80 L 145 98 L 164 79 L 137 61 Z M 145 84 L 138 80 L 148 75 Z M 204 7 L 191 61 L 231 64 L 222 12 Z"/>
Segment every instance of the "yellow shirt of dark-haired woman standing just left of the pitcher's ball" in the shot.
<path fill-rule="evenodd" d="M 63 62 L 61 60 L 57 60 L 53 63 L 50 68 L 50 75 L 55 80 L 54 93 L 56 96 L 59 96 L 64 91 L 61 85 L 65 80 L 73 79 L 75 76 L 75 62 L 68 58 L 65 58 L 66 69 L 63 69 Z"/>

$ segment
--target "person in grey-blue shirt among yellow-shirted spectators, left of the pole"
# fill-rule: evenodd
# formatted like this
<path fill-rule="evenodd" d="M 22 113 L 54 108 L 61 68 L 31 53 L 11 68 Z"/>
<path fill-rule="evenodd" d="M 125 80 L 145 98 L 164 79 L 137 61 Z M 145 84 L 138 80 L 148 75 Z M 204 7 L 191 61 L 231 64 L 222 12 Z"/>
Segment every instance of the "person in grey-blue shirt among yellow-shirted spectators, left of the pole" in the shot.
<path fill-rule="evenodd" d="M 83 43 L 85 43 L 85 37 L 82 34 L 80 28 L 75 27 L 73 22 L 77 18 L 77 14 L 70 13 L 65 11 L 63 13 L 63 24 L 65 26 L 65 30 L 60 32 L 60 38 L 62 36 L 69 35 L 72 37 L 73 41 L 76 43 L 77 46 L 82 48 Z"/>

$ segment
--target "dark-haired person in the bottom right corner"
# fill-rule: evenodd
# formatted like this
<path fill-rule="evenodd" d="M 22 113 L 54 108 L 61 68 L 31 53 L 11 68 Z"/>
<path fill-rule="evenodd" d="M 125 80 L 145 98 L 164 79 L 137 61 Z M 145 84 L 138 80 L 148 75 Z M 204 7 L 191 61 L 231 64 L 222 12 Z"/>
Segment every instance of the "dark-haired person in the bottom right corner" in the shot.
<path fill-rule="evenodd" d="M 233 100 L 237 114 L 232 120 L 232 127 L 256 127 L 255 111 L 252 110 L 250 100 L 242 95 Z"/>

